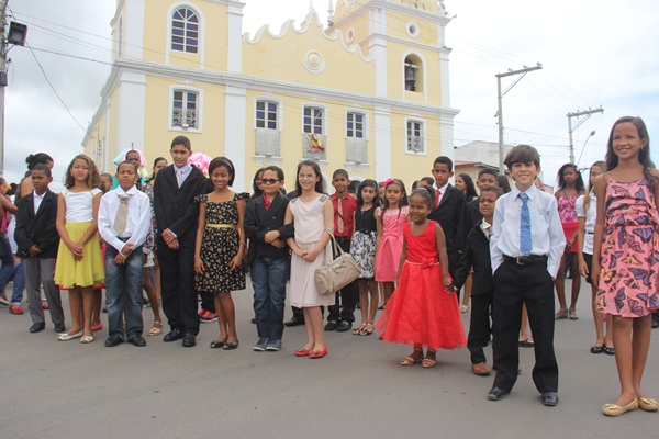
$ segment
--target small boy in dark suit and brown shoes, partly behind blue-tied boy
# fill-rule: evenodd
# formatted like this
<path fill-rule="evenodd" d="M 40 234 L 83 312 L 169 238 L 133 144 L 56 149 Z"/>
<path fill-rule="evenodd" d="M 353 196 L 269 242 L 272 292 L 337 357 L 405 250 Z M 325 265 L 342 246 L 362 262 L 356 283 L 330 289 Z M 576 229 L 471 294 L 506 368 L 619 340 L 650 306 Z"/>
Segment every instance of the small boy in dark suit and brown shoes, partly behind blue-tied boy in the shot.
<path fill-rule="evenodd" d="M 461 288 L 467 281 L 473 267 L 473 286 L 471 289 L 471 315 L 469 319 L 469 337 L 467 349 L 471 352 L 471 372 L 476 375 L 489 375 L 485 353 L 483 348 L 490 341 L 490 306 L 492 306 L 492 263 L 490 261 L 490 234 L 492 232 L 492 217 L 496 199 L 503 191 L 495 185 L 481 188 L 477 200 L 479 211 L 483 218 L 469 232 L 467 248 L 460 259 L 460 266 L 454 278 L 456 289 Z"/>

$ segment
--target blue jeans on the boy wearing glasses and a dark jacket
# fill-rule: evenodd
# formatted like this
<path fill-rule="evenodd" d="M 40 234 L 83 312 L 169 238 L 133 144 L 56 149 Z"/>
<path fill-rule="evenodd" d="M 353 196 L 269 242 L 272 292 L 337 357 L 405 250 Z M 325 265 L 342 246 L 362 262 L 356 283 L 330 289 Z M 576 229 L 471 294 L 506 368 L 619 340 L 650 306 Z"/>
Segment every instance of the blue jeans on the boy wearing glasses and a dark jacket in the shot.
<path fill-rule="evenodd" d="M 254 288 L 254 314 L 258 337 L 281 340 L 286 282 L 289 279 L 288 258 L 256 258 L 250 275 Z"/>

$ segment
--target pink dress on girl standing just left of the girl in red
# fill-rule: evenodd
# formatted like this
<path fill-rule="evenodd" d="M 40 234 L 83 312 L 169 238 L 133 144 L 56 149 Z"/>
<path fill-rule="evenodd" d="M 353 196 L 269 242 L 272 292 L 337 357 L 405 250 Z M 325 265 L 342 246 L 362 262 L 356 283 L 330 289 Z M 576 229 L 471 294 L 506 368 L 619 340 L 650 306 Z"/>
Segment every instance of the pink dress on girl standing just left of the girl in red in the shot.
<path fill-rule="evenodd" d="M 382 216 L 382 239 L 376 257 L 376 281 L 395 282 L 398 269 L 403 252 L 403 227 L 407 224 L 409 206 L 402 206 L 400 211 L 388 210 L 382 215 L 382 210 L 378 210 L 378 215 Z"/>

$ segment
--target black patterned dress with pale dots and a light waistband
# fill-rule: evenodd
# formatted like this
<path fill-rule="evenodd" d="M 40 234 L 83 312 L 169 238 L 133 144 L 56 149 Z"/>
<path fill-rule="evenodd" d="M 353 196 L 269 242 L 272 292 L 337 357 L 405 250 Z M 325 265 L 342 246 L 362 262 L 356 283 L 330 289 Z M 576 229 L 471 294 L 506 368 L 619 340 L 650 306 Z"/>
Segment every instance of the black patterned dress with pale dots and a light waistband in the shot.
<path fill-rule="evenodd" d="M 245 289 L 245 269 L 243 266 L 231 271 L 231 261 L 241 248 L 241 237 L 234 227 L 209 227 L 209 224 L 238 225 L 238 200 L 248 200 L 247 193 L 234 193 L 231 201 L 215 203 L 208 195 L 200 195 L 200 203 L 205 203 L 206 227 L 201 238 L 201 260 L 205 272 L 194 274 L 197 291 L 212 293 L 230 292 Z"/>

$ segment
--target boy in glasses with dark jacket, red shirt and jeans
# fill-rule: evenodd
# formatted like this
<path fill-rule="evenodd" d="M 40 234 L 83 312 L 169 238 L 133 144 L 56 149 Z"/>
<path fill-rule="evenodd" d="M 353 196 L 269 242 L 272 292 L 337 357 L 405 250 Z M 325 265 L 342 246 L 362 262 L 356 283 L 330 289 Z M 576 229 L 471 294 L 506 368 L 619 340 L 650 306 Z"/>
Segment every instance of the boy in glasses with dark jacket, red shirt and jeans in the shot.
<path fill-rule="evenodd" d="M 290 252 L 286 239 L 293 237 L 292 224 L 283 225 L 290 199 L 281 195 L 283 171 L 277 166 L 264 169 L 263 196 L 250 200 L 245 212 L 245 236 L 249 238 L 247 264 L 254 286 L 254 315 L 258 341 L 256 351 L 278 351 L 283 335 L 286 283 Z"/>

